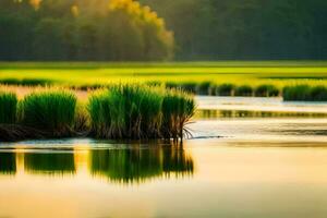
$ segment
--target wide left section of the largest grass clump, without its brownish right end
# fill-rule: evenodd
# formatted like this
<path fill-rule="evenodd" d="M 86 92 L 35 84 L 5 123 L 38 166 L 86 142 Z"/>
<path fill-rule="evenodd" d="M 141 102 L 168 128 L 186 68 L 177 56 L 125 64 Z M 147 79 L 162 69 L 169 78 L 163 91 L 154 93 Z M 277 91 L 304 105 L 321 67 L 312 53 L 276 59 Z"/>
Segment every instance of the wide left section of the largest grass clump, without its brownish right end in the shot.
<path fill-rule="evenodd" d="M 161 92 L 146 85 L 117 85 L 90 96 L 93 133 L 102 138 L 158 137 Z"/>

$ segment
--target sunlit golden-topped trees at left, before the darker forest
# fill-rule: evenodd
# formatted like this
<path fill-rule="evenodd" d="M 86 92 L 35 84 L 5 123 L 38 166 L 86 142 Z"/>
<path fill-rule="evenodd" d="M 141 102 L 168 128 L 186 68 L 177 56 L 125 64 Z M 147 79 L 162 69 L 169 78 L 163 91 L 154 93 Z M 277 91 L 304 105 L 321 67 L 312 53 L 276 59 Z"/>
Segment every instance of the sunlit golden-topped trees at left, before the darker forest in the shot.
<path fill-rule="evenodd" d="M 137 1 L 0 1 L 0 60 L 147 61 L 172 56 L 173 34 Z"/>

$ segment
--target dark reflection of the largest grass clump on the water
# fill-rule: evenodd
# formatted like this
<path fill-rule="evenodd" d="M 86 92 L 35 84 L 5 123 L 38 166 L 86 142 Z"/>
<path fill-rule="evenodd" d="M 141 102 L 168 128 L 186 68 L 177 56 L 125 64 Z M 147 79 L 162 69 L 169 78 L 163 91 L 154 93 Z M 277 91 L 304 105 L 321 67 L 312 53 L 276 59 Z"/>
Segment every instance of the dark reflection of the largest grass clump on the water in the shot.
<path fill-rule="evenodd" d="M 117 183 L 142 183 L 153 178 L 192 175 L 194 164 L 182 148 L 90 150 L 90 172 Z"/>

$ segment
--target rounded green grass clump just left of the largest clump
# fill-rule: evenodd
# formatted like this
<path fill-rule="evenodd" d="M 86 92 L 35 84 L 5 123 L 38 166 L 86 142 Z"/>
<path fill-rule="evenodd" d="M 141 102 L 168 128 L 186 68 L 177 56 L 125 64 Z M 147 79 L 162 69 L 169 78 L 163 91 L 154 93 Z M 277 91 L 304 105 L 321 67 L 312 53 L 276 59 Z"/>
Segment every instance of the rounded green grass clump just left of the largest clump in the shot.
<path fill-rule="evenodd" d="M 49 132 L 51 136 L 69 136 L 72 133 L 76 97 L 66 90 L 32 93 L 21 101 L 22 123 Z"/>

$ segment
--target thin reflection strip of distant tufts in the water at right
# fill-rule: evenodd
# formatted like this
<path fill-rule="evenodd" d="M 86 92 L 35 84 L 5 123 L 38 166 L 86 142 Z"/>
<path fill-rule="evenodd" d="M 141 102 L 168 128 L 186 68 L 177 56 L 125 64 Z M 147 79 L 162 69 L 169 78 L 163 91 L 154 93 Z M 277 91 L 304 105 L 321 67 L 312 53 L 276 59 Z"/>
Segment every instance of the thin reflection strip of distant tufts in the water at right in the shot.
<path fill-rule="evenodd" d="M 197 110 L 196 118 L 327 118 L 327 113 L 252 110 Z"/>

